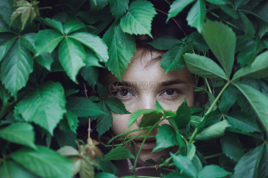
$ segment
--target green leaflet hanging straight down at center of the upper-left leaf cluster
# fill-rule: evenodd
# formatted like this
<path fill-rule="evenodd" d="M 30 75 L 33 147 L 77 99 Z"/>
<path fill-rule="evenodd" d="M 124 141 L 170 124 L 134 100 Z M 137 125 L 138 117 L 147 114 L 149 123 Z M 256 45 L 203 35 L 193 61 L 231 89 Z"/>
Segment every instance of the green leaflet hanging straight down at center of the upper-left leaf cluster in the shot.
<path fill-rule="evenodd" d="M 76 75 L 85 66 L 86 52 L 84 47 L 72 38 L 64 38 L 59 46 L 60 64 L 69 78 L 78 84 Z"/>

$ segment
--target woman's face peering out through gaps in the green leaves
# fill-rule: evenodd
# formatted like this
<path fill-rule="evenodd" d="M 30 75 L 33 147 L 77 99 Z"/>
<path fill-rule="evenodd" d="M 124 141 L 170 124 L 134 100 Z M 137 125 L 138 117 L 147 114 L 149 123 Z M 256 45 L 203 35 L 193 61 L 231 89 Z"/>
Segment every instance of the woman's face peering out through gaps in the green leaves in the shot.
<path fill-rule="evenodd" d="M 180 71 L 169 71 L 165 74 L 165 69 L 160 67 L 160 60 L 152 61 L 158 55 L 157 51 L 142 55 L 142 49 L 137 48 L 137 52 L 128 65 L 126 72 L 122 76 L 120 84 L 118 78 L 111 73 L 105 79 L 109 88 L 109 97 L 115 97 L 124 103 L 127 111 L 133 113 L 139 109 L 155 109 L 156 100 L 165 110 L 176 112 L 178 107 L 186 97 L 189 106 L 194 106 L 194 75 L 184 68 Z M 191 86 L 192 85 L 192 86 Z M 112 112 L 112 132 L 115 135 L 127 131 L 128 119 L 131 114 L 117 114 Z M 139 128 L 141 117 L 137 118 L 128 131 Z M 164 120 L 161 124 L 169 124 Z M 158 129 L 154 129 L 150 135 L 155 136 Z M 142 131 L 136 131 L 130 136 L 136 136 Z M 144 134 L 145 135 L 145 134 Z M 135 152 L 141 147 L 143 138 L 135 140 Z M 156 162 L 159 158 L 167 154 L 167 150 L 160 153 L 151 153 L 156 145 L 155 138 L 149 137 L 142 147 L 139 159 L 144 162 L 146 159 L 153 159 Z M 129 145 L 128 145 L 129 147 Z"/>

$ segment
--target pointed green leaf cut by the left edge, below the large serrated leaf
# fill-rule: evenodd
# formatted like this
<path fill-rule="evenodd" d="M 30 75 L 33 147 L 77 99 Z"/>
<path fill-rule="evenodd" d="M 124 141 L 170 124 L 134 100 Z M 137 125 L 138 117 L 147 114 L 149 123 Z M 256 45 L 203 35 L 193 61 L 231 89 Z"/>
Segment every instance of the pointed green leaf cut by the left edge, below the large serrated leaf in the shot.
<path fill-rule="evenodd" d="M 36 149 L 33 127 L 29 123 L 13 123 L 4 127 L 0 129 L 0 137 Z"/>

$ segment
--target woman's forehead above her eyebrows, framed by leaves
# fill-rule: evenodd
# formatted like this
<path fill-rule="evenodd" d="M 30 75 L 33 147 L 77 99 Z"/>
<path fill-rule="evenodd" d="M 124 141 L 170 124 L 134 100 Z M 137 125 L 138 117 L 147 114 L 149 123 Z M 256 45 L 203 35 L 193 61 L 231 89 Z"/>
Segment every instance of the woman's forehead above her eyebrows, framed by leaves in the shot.
<path fill-rule="evenodd" d="M 160 65 L 162 53 L 159 51 L 144 52 L 142 48 L 137 48 L 128 68 L 122 76 L 122 81 L 125 82 L 165 82 L 169 80 L 177 80 L 182 83 L 194 85 L 194 75 L 187 68 L 182 70 L 172 70 L 165 74 L 165 69 Z M 159 60 L 157 60 L 159 58 Z M 156 59 L 156 60 L 153 60 Z M 107 84 L 117 81 L 112 73 L 109 73 L 106 82 Z"/>

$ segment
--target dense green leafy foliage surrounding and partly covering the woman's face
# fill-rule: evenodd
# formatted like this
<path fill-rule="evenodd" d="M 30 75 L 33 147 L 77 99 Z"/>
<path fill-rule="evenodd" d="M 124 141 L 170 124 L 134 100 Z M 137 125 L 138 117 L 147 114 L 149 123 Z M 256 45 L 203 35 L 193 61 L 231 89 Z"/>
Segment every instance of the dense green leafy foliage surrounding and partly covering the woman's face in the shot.
<path fill-rule="evenodd" d="M 186 65 L 204 78 L 195 90 L 200 107 L 185 100 L 176 113 L 156 103 L 132 114 L 129 125 L 143 114 L 147 133 L 163 119 L 170 122 L 159 127 L 154 151 L 179 146 L 160 163 L 147 163 L 174 169 L 160 174 L 168 178 L 268 177 L 268 2 L 175 0 L 166 20 L 185 7 L 197 30 L 150 44 L 167 50 L 161 59 L 166 72 Z M 98 139 L 111 127 L 110 110 L 128 113 L 108 98 L 98 69 L 121 79 L 136 50 L 134 35 L 151 36 L 156 13 L 145 0 L 0 0 L 1 178 L 112 178 L 117 167 L 111 160 L 134 158 L 123 147 L 134 139 L 131 131 L 104 154 L 99 148 L 110 148 L 119 136 L 107 143 L 87 138 L 88 116 Z M 217 60 L 207 57 L 208 49 Z"/>

